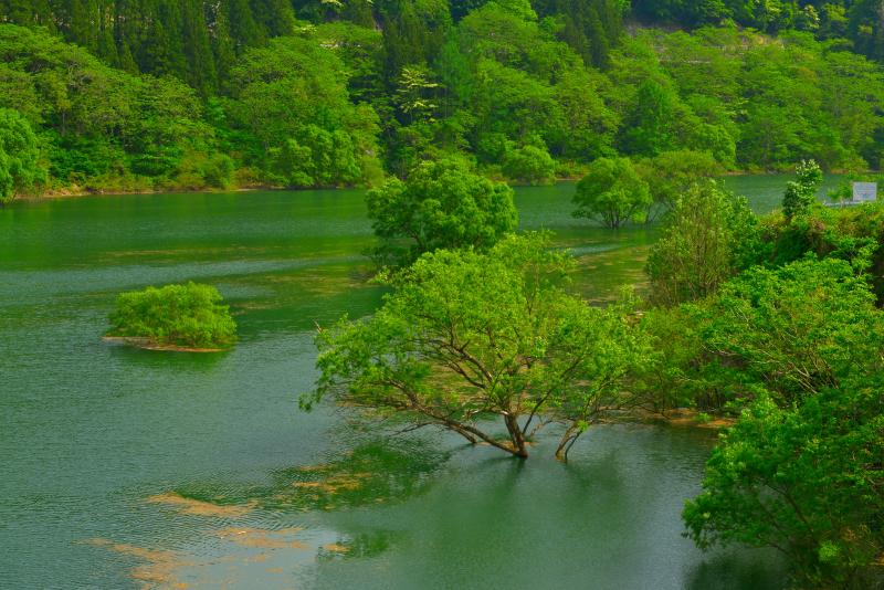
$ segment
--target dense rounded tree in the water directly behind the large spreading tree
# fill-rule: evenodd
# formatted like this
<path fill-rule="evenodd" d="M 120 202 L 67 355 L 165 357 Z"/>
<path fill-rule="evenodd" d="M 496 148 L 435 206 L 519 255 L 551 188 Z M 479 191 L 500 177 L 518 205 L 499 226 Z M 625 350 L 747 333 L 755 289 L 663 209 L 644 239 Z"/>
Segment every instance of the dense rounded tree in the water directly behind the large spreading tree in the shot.
<path fill-rule="evenodd" d="M 366 197 L 381 261 L 406 265 L 439 249 L 487 250 L 517 225 L 513 189 L 459 160 L 424 162 Z"/>

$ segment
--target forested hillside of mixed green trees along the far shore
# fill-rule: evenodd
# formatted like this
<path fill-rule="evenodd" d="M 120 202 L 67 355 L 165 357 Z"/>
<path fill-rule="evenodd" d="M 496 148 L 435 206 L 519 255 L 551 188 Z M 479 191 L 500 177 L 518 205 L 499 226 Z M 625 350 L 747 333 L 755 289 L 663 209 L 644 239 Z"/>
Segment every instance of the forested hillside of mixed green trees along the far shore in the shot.
<path fill-rule="evenodd" d="M 2 198 L 372 185 L 439 157 L 532 183 L 685 151 L 719 170 L 877 168 L 881 10 L 2 0 L 0 161 L 31 170 Z"/>

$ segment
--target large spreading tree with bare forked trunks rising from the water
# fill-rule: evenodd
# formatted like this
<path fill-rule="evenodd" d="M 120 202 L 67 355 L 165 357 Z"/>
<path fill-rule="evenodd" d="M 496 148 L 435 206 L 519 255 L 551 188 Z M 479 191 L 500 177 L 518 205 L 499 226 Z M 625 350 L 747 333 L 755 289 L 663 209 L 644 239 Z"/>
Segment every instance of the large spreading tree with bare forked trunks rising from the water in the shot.
<path fill-rule="evenodd" d="M 646 346 L 622 308 L 589 307 L 562 289 L 571 262 L 548 245 L 507 236 L 487 254 L 423 255 L 387 281 L 396 289 L 373 317 L 319 331 L 320 377 L 302 405 L 333 396 L 518 457 L 558 422 L 565 459 L 593 421 L 628 402 L 622 382 Z"/>

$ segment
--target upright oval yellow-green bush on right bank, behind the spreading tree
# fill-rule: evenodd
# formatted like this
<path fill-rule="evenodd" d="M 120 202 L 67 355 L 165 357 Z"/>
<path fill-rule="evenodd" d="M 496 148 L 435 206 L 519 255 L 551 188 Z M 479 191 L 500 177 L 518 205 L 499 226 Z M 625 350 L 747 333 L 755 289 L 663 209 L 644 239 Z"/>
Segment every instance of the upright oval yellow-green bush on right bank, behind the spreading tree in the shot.
<path fill-rule="evenodd" d="M 692 186 L 676 199 L 648 256 L 652 301 L 673 306 L 715 293 L 755 257 L 757 243 L 757 219 L 745 198 L 714 182 Z"/>

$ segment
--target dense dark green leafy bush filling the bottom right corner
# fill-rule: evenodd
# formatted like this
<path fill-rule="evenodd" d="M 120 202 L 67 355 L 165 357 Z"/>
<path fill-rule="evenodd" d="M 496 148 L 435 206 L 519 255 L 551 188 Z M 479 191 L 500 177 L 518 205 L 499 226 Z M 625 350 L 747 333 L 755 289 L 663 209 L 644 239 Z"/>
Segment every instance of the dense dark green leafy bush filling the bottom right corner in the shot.
<path fill-rule="evenodd" d="M 796 409 L 762 396 L 723 435 L 684 519 L 703 548 L 776 547 L 802 588 L 872 588 L 884 550 L 878 379 Z"/>

